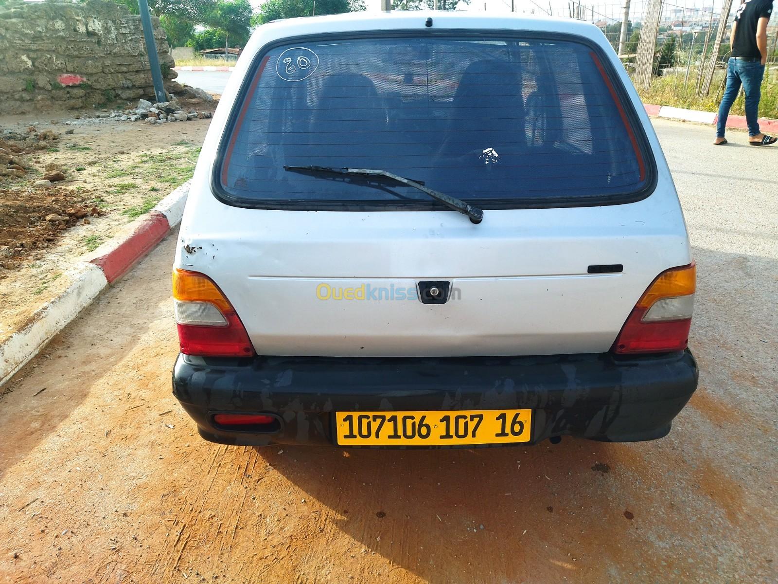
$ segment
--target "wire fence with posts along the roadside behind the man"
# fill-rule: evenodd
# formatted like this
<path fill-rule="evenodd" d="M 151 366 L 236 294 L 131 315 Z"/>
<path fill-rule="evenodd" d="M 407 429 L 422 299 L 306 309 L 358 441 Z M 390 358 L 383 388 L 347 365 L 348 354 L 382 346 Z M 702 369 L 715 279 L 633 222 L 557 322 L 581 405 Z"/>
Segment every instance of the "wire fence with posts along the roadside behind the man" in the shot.
<path fill-rule="evenodd" d="M 598 26 L 647 103 L 715 111 L 726 81 L 734 12 L 741 0 L 502 2 L 515 12 L 586 20 Z M 768 65 L 760 114 L 778 118 L 778 22 L 773 21 L 767 30 Z M 741 95 L 733 113 L 742 113 L 742 100 Z"/>

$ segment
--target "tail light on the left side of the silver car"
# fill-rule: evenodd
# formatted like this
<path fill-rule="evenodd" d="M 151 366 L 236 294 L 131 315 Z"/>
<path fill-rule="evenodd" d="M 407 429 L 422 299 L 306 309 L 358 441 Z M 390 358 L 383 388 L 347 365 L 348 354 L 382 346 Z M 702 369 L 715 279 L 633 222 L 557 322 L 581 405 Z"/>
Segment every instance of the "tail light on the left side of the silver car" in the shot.
<path fill-rule="evenodd" d="M 208 276 L 174 269 L 173 299 L 181 353 L 202 357 L 254 354 L 243 322 Z"/>

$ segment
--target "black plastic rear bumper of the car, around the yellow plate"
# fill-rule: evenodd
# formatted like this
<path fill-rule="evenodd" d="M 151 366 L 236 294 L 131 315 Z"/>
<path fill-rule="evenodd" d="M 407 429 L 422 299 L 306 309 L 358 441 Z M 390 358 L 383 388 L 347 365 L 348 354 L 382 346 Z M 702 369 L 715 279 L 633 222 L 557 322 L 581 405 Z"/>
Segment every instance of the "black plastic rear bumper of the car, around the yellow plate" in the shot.
<path fill-rule="evenodd" d="M 179 355 L 173 395 L 206 440 L 334 445 L 335 411 L 531 408 L 531 442 L 572 435 L 653 440 L 697 387 L 686 350 L 640 357 L 254 357 Z M 213 415 L 272 413 L 273 433 L 217 427 Z"/>

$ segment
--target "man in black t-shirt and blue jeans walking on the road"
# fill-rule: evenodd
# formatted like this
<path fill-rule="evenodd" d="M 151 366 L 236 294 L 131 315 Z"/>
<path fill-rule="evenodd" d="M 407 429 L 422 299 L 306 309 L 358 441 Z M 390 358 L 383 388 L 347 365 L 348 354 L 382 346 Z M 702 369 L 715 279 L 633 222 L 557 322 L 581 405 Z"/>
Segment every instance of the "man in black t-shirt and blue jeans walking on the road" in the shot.
<path fill-rule="evenodd" d="M 713 142 L 717 146 L 727 143 L 724 138 L 727 116 L 741 85 L 745 91 L 748 143 L 769 146 L 778 142 L 778 138 L 759 132 L 759 98 L 762 97 L 762 76 L 767 62 L 767 23 L 772 12 L 773 0 L 745 0 L 734 16 L 730 36 L 732 56 L 727 62 L 727 89 L 721 97 L 716 140 Z"/>

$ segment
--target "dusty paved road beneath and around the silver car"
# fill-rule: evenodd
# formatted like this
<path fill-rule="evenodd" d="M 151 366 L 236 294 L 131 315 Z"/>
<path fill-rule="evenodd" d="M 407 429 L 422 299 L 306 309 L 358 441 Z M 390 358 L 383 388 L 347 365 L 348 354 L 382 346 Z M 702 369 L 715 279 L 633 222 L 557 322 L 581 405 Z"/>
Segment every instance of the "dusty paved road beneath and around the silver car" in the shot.
<path fill-rule="evenodd" d="M 778 150 L 657 128 L 699 264 L 701 384 L 667 438 L 202 442 L 170 396 L 169 237 L 0 398 L 0 581 L 776 582 Z"/>

